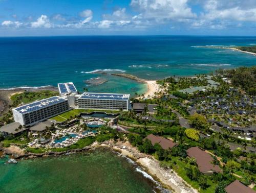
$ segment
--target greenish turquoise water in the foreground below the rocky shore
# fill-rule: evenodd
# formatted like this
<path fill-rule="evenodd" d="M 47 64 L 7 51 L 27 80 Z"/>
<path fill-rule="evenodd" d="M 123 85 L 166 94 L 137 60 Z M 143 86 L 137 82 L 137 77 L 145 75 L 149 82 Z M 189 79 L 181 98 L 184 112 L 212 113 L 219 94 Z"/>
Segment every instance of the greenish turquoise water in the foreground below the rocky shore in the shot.
<path fill-rule="evenodd" d="M 0 192 L 153 192 L 156 184 L 116 153 L 97 150 L 69 156 L 0 159 Z M 118 174 L 118 175 L 117 175 Z"/>

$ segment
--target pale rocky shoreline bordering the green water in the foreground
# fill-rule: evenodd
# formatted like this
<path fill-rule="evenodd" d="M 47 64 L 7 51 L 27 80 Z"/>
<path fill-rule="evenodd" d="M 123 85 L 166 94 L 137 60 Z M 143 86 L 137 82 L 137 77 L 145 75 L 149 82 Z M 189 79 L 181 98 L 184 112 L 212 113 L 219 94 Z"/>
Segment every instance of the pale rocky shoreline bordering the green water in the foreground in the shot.
<path fill-rule="evenodd" d="M 14 159 L 33 159 L 36 157 L 61 156 L 76 152 L 93 151 L 97 148 L 108 148 L 110 151 L 115 151 L 122 156 L 131 159 L 136 164 L 141 166 L 143 170 L 154 179 L 155 182 L 159 182 L 162 188 L 174 190 L 174 192 L 178 193 L 198 192 L 198 190 L 191 187 L 180 176 L 178 176 L 175 171 L 160 167 L 158 160 L 156 160 L 152 155 L 140 153 L 137 148 L 132 147 L 129 141 L 114 142 L 113 140 L 109 140 L 102 143 L 94 142 L 90 146 L 86 146 L 81 149 L 68 150 L 65 152 L 45 152 L 41 154 L 25 153 L 24 150 L 16 146 L 2 148 L 2 151 L 5 153 L 5 155 L 12 155 Z"/>

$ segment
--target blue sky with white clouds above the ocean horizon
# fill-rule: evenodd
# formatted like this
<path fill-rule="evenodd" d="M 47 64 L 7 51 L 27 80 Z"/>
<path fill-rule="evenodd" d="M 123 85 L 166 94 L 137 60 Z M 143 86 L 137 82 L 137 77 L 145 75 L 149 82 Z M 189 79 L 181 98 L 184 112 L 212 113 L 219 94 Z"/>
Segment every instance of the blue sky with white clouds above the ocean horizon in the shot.
<path fill-rule="evenodd" d="M 0 36 L 256 35 L 256 0 L 0 0 Z"/>

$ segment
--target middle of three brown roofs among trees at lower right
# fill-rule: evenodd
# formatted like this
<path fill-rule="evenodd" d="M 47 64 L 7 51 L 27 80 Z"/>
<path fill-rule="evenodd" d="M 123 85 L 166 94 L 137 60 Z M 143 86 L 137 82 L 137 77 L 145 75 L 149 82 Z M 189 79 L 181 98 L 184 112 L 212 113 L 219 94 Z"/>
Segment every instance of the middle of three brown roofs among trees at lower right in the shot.
<path fill-rule="evenodd" d="M 219 165 L 214 165 L 214 161 L 208 153 L 198 147 L 192 147 L 187 150 L 188 157 L 194 157 L 197 160 L 198 169 L 203 174 L 212 174 L 222 172 Z"/>

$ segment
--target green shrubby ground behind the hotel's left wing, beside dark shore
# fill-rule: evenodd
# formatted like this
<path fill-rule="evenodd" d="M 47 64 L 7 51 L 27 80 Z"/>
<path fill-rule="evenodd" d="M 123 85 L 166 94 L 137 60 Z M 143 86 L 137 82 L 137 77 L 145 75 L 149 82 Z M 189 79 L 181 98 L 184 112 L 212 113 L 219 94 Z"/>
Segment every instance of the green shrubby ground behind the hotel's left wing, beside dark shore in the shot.
<path fill-rule="evenodd" d="M 11 96 L 11 100 L 13 102 L 13 107 L 18 106 L 19 104 L 23 103 L 31 103 L 35 100 L 41 100 L 50 98 L 51 96 L 58 95 L 58 92 L 51 91 L 51 90 L 41 90 L 41 91 L 25 91 L 23 93 L 17 93 Z"/>

